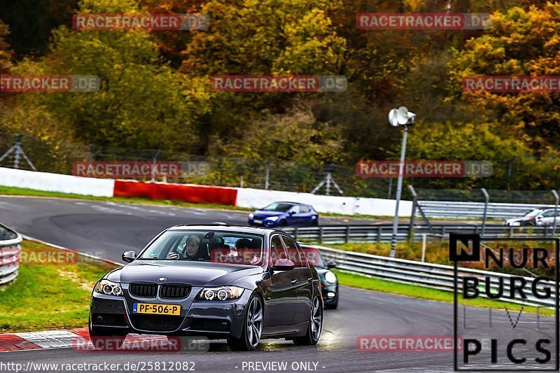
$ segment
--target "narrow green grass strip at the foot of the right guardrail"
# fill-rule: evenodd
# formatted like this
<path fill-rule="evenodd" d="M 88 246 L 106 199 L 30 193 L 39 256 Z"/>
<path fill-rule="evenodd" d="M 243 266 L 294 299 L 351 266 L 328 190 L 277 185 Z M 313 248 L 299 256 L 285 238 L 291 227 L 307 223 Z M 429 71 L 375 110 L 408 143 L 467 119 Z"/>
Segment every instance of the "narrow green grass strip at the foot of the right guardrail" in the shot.
<path fill-rule="evenodd" d="M 384 293 L 393 293 L 400 295 L 407 295 L 409 297 L 416 297 L 426 300 L 437 300 L 440 302 L 453 303 L 453 293 L 444 290 L 437 290 L 432 288 L 424 288 L 423 286 L 408 285 L 406 283 L 398 283 L 393 281 L 385 281 L 376 279 L 374 277 L 361 276 L 350 272 L 334 270 L 338 276 L 338 281 L 341 285 L 351 286 L 353 288 L 360 288 L 366 290 L 376 290 Z M 500 302 L 498 300 L 489 300 L 485 298 L 476 298 L 474 300 L 460 300 L 461 304 L 472 307 L 492 307 L 495 309 L 503 309 L 504 306 L 510 311 L 521 310 L 521 304 Z M 522 306 L 524 312 L 531 312 L 535 314 L 537 307 Z M 554 315 L 553 309 L 540 308 L 539 314 Z"/>

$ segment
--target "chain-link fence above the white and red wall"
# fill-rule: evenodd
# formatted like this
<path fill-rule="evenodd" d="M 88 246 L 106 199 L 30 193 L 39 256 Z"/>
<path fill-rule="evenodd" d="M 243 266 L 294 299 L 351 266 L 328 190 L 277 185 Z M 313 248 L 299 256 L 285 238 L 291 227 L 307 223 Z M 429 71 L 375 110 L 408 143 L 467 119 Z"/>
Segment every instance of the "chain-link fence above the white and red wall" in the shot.
<path fill-rule="evenodd" d="M 20 146 L 19 153 L 15 146 Z M 10 150 L 12 151 L 6 155 Z M 360 178 L 354 167 L 335 164 L 314 165 L 274 158 L 262 161 L 152 149 L 85 146 L 67 142 L 55 143 L 33 136 L 22 136 L 18 141 L 18 134 L 5 133 L 0 133 L 0 157 L 2 155 L 6 157 L 0 160 L 0 167 L 34 167 L 37 171 L 59 174 L 72 174 L 74 162 L 180 162 L 181 176 L 166 178 L 166 181 L 293 192 L 314 191 L 318 195 L 387 198 L 394 197 L 396 185 L 386 178 Z M 155 180 L 161 181 L 162 178 Z M 317 188 L 318 185 L 321 188 Z"/>

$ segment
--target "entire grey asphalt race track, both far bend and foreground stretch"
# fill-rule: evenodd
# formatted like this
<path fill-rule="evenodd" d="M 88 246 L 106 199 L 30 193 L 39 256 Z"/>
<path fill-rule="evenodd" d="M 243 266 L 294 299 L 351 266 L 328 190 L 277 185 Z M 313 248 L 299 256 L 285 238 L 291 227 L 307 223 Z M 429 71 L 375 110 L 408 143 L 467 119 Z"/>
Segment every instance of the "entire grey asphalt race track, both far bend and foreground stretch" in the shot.
<path fill-rule="evenodd" d="M 53 244 L 92 253 L 101 250 L 106 258 L 113 260 L 120 260 L 120 253 L 126 249 L 141 248 L 153 235 L 170 225 L 214 221 L 244 223 L 245 216 L 244 212 L 232 211 L 0 197 L 1 223 L 22 234 Z M 349 219 L 346 222 L 342 218 L 325 220 L 329 224 L 363 224 L 366 221 Z M 469 315 L 472 320 L 483 323 L 488 310 L 469 309 Z M 511 330 L 507 317 L 503 309 L 494 311 L 491 325 L 496 329 L 493 329 L 493 336 L 507 337 L 507 330 Z M 540 317 L 541 322 L 547 320 Z M 506 328 L 497 328 L 500 325 Z M 263 372 L 262 364 L 286 362 L 286 372 L 305 371 L 297 363 L 310 363 L 310 370 L 318 372 L 452 372 L 452 352 L 358 351 L 356 341 L 363 335 L 452 336 L 453 328 L 452 304 L 342 287 L 339 308 L 325 310 L 321 340 L 313 347 L 294 346 L 292 342 L 277 339 L 265 340 L 258 351 L 248 353 L 231 352 L 225 341 L 211 342 L 210 351 L 204 353 L 81 353 L 72 348 L 43 349 L 3 352 L 0 353 L 0 363 L 19 363 L 24 367 L 29 362 L 119 363 L 120 367 L 124 367 L 125 363 L 169 364 L 181 361 L 194 362 L 196 372 L 216 373 Z M 535 322 L 531 316 L 523 314 L 519 318 L 517 332 L 519 330 L 527 334 L 534 332 Z M 538 330 L 538 335 L 554 339 L 553 330 Z M 249 369 L 248 363 L 260 365 L 253 365 L 253 369 Z M 494 365 L 492 368 L 499 367 Z M 41 370 L 45 371 L 50 370 Z M 124 371 L 123 368 L 113 370 Z"/>

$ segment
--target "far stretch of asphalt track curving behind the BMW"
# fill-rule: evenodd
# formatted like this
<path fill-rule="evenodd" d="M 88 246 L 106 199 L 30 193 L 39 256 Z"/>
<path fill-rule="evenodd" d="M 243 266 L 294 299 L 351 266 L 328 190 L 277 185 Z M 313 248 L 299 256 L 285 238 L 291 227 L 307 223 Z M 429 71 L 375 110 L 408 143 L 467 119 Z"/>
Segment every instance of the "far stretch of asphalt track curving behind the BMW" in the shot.
<path fill-rule="evenodd" d="M 80 199 L 0 197 L 0 223 L 29 237 L 120 262 L 167 227 L 224 222 L 247 224 L 246 211 L 92 202 Z M 320 216 L 328 225 L 378 220 Z"/>

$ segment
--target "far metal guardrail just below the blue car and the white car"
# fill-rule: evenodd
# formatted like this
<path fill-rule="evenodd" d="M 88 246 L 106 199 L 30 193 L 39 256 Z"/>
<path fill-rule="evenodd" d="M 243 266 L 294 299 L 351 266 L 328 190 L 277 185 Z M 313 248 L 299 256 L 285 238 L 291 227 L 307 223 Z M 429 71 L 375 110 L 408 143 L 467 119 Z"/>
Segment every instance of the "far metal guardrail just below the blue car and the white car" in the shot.
<path fill-rule="evenodd" d="M 379 225 L 320 225 L 318 227 L 282 227 L 299 241 L 319 244 L 344 244 L 347 242 L 388 242 L 391 241 L 393 227 Z M 486 225 L 484 235 L 503 238 L 552 237 L 552 227 L 510 227 L 506 225 Z M 481 234 L 480 225 L 415 225 L 412 240 L 422 239 L 422 234 L 441 234 L 449 232 Z M 399 225 L 397 240 L 409 239 L 409 225 Z"/>

